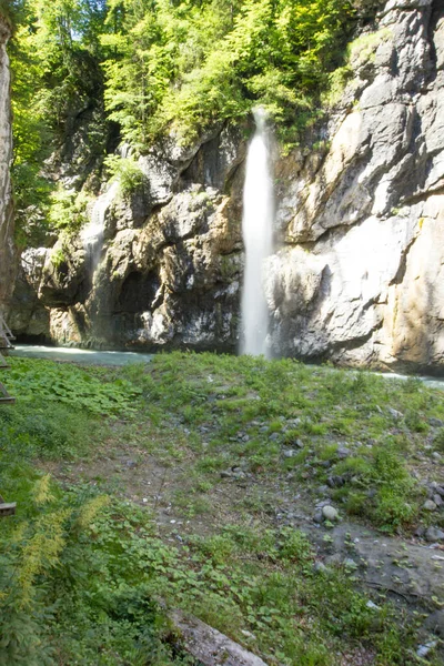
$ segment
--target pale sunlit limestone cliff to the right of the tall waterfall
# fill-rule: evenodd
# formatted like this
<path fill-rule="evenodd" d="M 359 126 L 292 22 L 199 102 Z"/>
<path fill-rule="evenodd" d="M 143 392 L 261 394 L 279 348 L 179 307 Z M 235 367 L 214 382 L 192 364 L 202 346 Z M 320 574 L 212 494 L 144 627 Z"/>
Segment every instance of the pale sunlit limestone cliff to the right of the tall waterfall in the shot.
<path fill-rule="evenodd" d="M 365 51 L 365 56 L 363 56 Z M 444 7 L 389 2 L 352 46 L 321 155 L 278 165 L 275 351 L 444 364 Z"/>

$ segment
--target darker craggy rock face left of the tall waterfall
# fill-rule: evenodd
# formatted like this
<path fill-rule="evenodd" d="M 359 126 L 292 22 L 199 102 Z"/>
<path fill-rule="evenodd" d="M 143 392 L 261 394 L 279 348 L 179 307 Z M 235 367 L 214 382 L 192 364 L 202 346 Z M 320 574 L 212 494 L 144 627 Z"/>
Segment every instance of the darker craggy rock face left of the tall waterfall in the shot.
<path fill-rule="evenodd" d="M 189 150 L 165 143 L 140 158 L 143 192 L 108 202 L 95 266 L 80 236 L 22 255 L 14 331 L 61 344 L 232 350 L 243 158 L 230 128 Z"/>

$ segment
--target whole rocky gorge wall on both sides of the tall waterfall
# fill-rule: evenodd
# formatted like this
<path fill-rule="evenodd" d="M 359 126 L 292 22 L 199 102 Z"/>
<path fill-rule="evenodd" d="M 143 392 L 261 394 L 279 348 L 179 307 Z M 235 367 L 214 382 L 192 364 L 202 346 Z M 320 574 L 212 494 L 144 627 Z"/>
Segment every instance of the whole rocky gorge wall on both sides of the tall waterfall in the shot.
<path fill-rule="evenodd" d="M 390 0 L 351 47 L 316 150 L 275 164 L 275 354 L 444 370 L 444 3 Z M 140 159 L 143 191 L 81 238 L 24 252 L 13 327 L 62 344 L 234 350 L 245 140 L 215 128 Z M 56 261 L 56 259 L 57 261 Z"/>

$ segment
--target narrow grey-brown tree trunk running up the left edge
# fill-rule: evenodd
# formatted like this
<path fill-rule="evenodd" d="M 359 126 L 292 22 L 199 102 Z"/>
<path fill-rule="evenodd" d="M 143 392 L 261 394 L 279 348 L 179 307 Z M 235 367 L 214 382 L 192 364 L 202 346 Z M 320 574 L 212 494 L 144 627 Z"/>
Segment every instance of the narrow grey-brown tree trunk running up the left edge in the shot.
<path fill-rule="evenodd" d="M 0 16 L 0 311 L 6 307 L 11 296 L 16 269 L 10 179 L 12 133 L 10 71 L 7 53 L 9 38 L 10 28 Z"/>

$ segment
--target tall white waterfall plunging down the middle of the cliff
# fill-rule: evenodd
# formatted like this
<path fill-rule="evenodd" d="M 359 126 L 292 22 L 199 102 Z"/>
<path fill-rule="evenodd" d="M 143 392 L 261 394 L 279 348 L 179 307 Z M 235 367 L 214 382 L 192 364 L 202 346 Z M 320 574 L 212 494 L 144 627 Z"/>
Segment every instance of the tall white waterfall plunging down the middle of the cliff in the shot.
<path fill-rule="evenodd" d="M 269 309 L 264 292 L 264 260 L 273 251 L 273 183 L 266 114 L 254 111 L 256 131 L 246 155 L 243 192 L 242 235 L 245 245 L 245 273 L 242 291 L 242 354 L 270 355 L 268 345 Z"/>

